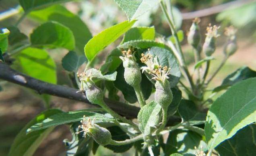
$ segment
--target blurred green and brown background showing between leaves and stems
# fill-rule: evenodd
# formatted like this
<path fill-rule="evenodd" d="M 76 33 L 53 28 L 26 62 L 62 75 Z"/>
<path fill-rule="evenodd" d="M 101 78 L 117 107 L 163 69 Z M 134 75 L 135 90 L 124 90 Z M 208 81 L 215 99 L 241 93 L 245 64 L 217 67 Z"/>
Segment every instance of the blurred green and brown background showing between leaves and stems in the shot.
<path fill-rule="evenodd" d="M 172 0 L 171 2 L 175 9 L 174 17 L 176 25 L 180 27 L 184 34 L 189 30 L 192 23 L 192 16 L 194 11 L 208 9 L 205 13 L 198 12 L 201 22 L 201 34 L 204 38 L 206 33 L 206 26 L 209 23 L 218 24 L 221 26 L 221 36 L 217 39 L 217 51 L 214 53 L 216 58 L 212 61 L 210 75 L 221 62 L 223 58 L 222 49 L 225 43 L 225 36 L 223 30 L 226 26 L 233 25 L 238 29 L 237 43 L 238 51 L 235 55 L 232 55 L 227 61 L 220 73 L 215 77 L 210 87 L 219 85 L 224 77 L 232 73 L 239 67 L 244 65 L 256 70 L 256 2 L 253 0 Z M 224 8 L 222 5 L 226 3 Z M 0 12 L 1 14 L 10 8 L 15 8 L 18 5 L 17 0 L 0 0 Z M 71 12 L 78 14 L 80 18 L 87 24 L 93 35 L 99 33 L 101 30 L 126 20 L 126 15 L 114 2 L 114 0 L 77 0 L 62 4 Z M 228 6 L 228 7 L 227 7 Z M 193 12 L 189 14 L 188 12 Z M 209 15 L 208 15 L 209 14 Z M 6 20 L 0 21 L 0 28 L 13 25 L 19 19 L 19 14 L 12 16 Z M 25 34 L 31 33 L 33 28 L 38 23 L 26 18 L 19 25 L 21 32 Z M 135 26 L 155 26 L 156 32 L 168 37 L 171 35 L 169 26 L 163 16 L 161 9 L 156 6 L 151 11 L 147 12 L 143 16 L 140 16 Z M 192 47 L 187 45 L 186 35 L 184 35 L 182 41 L 182 49 L 186 57 L 186 63 L 189 65 L 191 73 L 193 73 L 194 56 Z M 116 45 L 120 43 L 116 41 L 111 46 L 107 47 L 103 53 L 101 53 L 96 60 L 96 66 L 99 67 L 102 61 L 106 57 L 107 53 L 111 51 Z M 203 41 L 203 40 L 202 40 Z M 50 51 L 50 55 L 54 58 L 58 71 L 58 84 L 70 85 L 68 75 L 64 72 L 61 66 L 61 59 L 68 51 L 63 49 L 54 49 Z M 0 71 L 1 72 L 1 71 Z M 0 92 L 0 156 L 4 156 L 8 153 L 10 145 L 14 140 L 16 134 L 21 128 L 29 122 L 37 113 L 44 109 L 43 101 L 35 96 L 31 91 L 7 83 L 6 81 L 0 81 L 0 85 L 3 91 Z M 72 101 L 68 99 L 62 99 L 59 97 L 52 97 L 52 107 L 59 107 L 65 111 L 84 109 L 90 107 L 84 103 Z M 52 132 L 46 140 L 40 145 L 39 149 L 34 155 L 47 155 L 57 156 L 65 155 L 65 148 L 62 141 L 65 139 L 71 139 L 68 126 L 60 126 Z M 133 155 L 133 149 L 130 149 L 125 154 L 114 154 L 110 150 L 99 147 L 97 154 L 99 156 L 110 155 Z"/>

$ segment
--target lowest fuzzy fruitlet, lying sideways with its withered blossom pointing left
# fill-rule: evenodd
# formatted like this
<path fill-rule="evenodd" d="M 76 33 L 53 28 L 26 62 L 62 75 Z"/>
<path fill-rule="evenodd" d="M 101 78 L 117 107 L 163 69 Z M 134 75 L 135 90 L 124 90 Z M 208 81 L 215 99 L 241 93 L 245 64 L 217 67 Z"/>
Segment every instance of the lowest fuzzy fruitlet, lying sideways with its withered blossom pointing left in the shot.
<path fill-rule="evenodd" d="M 83 120 L 81 120 L 81 126 L 78 126 L 78 128 L 82 128 L 80 132 L 76 132 L 76 134 L 79 134 L 83 132 L 83 137 L 86 137 L 86 135 L 92 137 L 95 142 L 97 142 L 99 145 L 105 146 L 111 142 L 111 133 L 103 127 L 100 127 L 97 124 L 94 124 L 94 120 L 91 122 L 91 119 L 88 118 L 86 120 L 85 115 L 83 116 Z"/>

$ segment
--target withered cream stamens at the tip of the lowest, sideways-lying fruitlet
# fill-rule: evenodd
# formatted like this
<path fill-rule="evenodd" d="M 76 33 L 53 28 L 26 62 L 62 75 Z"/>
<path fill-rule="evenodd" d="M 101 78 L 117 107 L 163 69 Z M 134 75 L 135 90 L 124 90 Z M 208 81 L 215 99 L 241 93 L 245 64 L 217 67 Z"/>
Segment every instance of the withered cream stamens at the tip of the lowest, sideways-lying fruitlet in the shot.
<path fill-rule="evenodd" d="M 83 132 L 83 133 L 84 133 L 84 134 L 83 134 L 83 137 L 85 137 L 86 134 L 89 134 L 91 128 L 94 128 L 94 127 L 95 127 L 95 126 L 94 126 L 94 120 L 95 120 L 95 118 L 94 118 L 92 121 L 91 121 L 90 118 L 88 118 L 88 119 L 86 120 L 85 115 L 84 115 L 84 116 L 83 116 L 83 120 L 80 121 L 82 125 L 79 125 L 79 126 L 78 126 L 78 128 L 79 128 L 79 129 L 82 128 L 82 130 L 79 131 L 79 132 L 76 132 L 76 134 L 79 134 L 79 133 Z"/>

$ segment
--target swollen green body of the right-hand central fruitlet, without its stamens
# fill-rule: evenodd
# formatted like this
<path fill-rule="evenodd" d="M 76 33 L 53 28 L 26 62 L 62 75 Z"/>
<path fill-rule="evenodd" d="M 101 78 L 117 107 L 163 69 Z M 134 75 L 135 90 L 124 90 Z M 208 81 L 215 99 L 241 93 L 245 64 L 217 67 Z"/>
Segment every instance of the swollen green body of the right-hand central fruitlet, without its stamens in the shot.
<path fill-rule="evenodd" d="M 172 91 L 169 87 L 169 81 L 157 81 L 155 83 L 155 88 L 155 101 L 163 108 L 167 108 L 171 104 L 173 97 Z"/>

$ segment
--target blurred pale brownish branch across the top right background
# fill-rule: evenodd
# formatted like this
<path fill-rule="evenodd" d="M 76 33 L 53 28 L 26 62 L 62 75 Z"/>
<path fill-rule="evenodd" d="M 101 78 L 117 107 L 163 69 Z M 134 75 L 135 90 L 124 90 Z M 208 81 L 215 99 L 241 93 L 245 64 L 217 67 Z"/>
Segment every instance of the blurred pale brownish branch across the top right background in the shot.
<path fill-rule="evenodd" d="M 196 18 L 196 17 L 209 16 L 209 15 L 212 15 L 212 14 L 217 14 L 217 13 L 222 12 L 222 11 L 227 10 L 227 9 L 237 8 L 239 6 L 242 6 L 244 4 L 248 4 L 248 3 L 254 2 L 254 1 L 255 0 L 236 0 L 236 1 L 232 1 L 232 2 L 227 2 L 225 4 L 221 4 L 221 5 L 218 5 L 218 6 L 213 6 L 211 8 L 206 8 L 206 9 L 193 11 L 193 12 L 182 13 L 182 18 L 184 20 L 189 20 L 189 19 L 193 19 L 193 18 Z"/>

